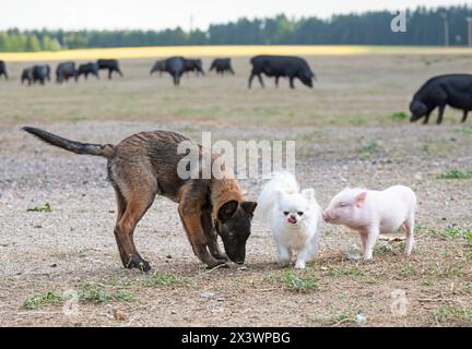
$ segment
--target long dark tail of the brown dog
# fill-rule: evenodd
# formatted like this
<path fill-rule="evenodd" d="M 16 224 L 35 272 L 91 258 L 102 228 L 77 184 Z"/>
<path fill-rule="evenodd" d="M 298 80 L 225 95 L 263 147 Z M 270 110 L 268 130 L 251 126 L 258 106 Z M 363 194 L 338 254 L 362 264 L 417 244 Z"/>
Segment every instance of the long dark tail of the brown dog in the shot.
<path fill-rule="evenodd" d="M 115 146 L 111 144 L 90 144 L 70 141 L 47 131 L 30 127 L 24 127 L 22 130 L 37 136 L 39 140 L 46 143 L 72 153 L 96 155 L 103 157 L 111 157 L 115 154 Z"/>

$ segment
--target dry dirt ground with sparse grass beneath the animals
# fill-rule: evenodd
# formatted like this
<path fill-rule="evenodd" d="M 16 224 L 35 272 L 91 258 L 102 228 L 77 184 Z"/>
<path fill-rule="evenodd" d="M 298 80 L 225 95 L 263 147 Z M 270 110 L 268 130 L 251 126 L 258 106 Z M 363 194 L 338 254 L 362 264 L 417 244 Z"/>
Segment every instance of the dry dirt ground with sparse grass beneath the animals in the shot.
<path fill-rule="evenodd" d="M 188 76 L 179 88 L 149 76 L 151 60 L 122 61 L 125 77 L 113 82 L 44 87 L 21 86 L 27 64 L 9 64 L 11 81 L 0 81 L 0 326 L 471 326 L 472 120 L 460 124 L 460 112 L 447 109 L 442 125 L 425 127 L 399 113 L 426 79 L 470 72 L 471 58 L 309 62 L 315 88 L 295 91 L 268 79 L 267 88 L 247 89 L 247 58 L 235 60 L 235 76 Z M 197 141 L 201 131 L 214 141 L 295 140 L 297 178 L 323 207 L 347 184 L 412 186 L 416 250 L 405 258 L 402 242 L 382 240 L 364 263 L 353 257 L 354 232 L 324 225 L 316 261 L 281 268 L 256 219 L 244 267 L 206 270 L 176 205 L 157 197 L 135 232 L 153 269 L 127 270 L 106 161 L 43 144 L 25 124 L 92 143 L 155 129 Z M 252 200 L 262 184 L 241 181 Z M 46 203 L 50 209 L 28 210 Z"/>

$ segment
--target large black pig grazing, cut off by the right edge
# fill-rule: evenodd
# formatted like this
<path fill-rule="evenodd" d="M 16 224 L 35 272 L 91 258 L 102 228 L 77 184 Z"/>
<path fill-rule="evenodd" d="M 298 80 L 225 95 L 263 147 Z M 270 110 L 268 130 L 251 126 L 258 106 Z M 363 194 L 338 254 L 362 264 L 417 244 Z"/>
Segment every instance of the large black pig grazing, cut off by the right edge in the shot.
<path fill-rule="evenodd" d="M 425 118 L 428 123 L 433 110 L 438 107 L 437 124 L 442 122 L 446 106 L 463 111 L 462 122 L 472 110 L 472 75 L 447 74 L 429 79 L 413 96 L 410 104 L 410 121 Z"/>

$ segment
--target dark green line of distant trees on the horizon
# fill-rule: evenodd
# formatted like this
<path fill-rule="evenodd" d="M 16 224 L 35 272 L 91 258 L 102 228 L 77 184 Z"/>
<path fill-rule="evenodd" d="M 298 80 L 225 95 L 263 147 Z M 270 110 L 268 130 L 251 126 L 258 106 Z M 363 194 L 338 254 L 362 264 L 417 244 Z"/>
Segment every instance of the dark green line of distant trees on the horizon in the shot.
<path fill-rule="evenodd" d="M 468 44 L 467 17 L 472 7 L 420 7 L 406 12 L 406 32 L 393 33 L 394 14 L 388 11 L 288 19 L 284 14 L 266 19 L 239 19 L 212 24 L 206 31 L 19 31 L 0 32 L 0 51 L 55 51 L 60 49 L 181 45 L 427 45 L 445 44 L 445 21 L 449 43 Z"/>

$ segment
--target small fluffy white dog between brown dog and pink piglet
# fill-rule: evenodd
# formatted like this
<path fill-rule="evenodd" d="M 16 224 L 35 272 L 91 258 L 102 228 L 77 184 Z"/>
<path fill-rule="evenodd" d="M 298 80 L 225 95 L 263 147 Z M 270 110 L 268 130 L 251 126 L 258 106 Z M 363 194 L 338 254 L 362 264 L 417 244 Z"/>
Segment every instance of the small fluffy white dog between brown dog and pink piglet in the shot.
<path fill-rule="evenodd" d="M 314 189 L 299 191 L 295 177 L 276 172 L 264 185 L 258 198 L 255 216 L 269 220 L 283 266 L 296 252 L 296 268 L 305 268 L 318 252 L 318 236 L 322 222 L 321 207 Z"/>

